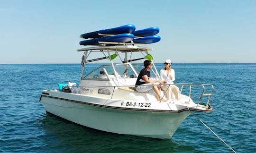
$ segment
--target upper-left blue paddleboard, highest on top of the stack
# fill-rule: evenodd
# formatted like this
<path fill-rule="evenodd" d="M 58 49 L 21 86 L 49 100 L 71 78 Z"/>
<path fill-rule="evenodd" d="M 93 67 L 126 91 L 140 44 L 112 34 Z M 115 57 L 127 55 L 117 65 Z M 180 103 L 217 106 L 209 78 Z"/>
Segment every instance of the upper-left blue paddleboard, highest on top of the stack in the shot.
<path fill-rule="evenodd" d="M 134 25 L 124 25 L 124 26 L 119 26 L 115 28 L 110 28 L 110 29 L 102 29 L 99 31 L 94 31 L 91 33 L 86 33 L 86 34 L 81 34 L 80 38 L 101 38 L 104 35 L 99 35 L 100 34 L 126 34 L 126 33 L 133 33 L 135 31 L 135 26 Z"/>

